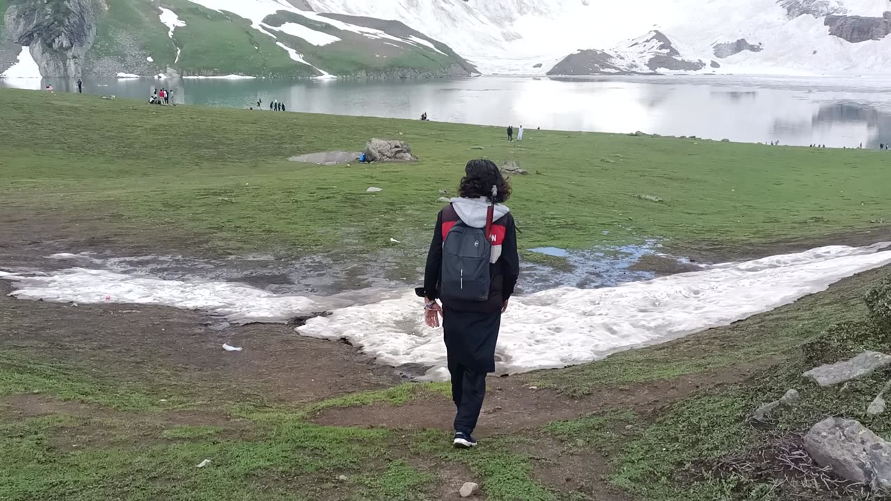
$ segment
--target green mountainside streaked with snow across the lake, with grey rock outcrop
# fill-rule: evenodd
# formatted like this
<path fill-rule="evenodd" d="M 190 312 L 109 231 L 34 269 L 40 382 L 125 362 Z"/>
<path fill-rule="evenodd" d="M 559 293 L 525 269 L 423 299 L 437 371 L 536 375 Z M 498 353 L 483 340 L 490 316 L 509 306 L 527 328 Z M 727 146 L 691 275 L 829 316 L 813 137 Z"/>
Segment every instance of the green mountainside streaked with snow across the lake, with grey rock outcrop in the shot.
<path fill-rule="evenodd" d="M 402 22 L 313 12 L 296 1 L 0 0 L 4 8 L 0 74 L 6 77 L 476 72 L 448 45 Z"/>

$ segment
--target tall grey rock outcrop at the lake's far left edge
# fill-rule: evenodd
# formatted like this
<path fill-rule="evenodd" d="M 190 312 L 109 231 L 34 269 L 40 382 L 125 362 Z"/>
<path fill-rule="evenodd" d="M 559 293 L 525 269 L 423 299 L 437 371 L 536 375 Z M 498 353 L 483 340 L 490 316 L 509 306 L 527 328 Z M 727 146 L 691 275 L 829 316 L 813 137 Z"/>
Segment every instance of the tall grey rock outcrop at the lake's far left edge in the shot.
<path fill-rule="evenodd" d="M 13 0 L 6 9 L 7 37 L 28 45 L 46 78 L 76 78 L 96 37 L 93 0 Z"/>

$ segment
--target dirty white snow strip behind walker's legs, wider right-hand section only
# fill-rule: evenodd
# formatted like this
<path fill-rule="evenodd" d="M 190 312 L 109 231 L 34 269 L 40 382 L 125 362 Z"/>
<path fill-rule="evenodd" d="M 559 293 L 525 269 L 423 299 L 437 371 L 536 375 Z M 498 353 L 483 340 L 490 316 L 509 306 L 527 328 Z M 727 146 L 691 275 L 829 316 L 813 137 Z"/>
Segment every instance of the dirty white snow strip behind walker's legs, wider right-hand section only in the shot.
<path fill-rule="evenodd" d="M 731 324 L 891 264 L 891 251 L 879 251 L 888 245 L 823 247 L 617 287 L 558 288 L 518 297 L 502 322 L 499 368 L 518 373 L 581 364 Z M 347 338 L 384 364 L 429 365 L 430 379 L 446 379 L 442 334 L 423 326 L 419 305 L 406 292 L 313 318 L 298 333 Z"/>

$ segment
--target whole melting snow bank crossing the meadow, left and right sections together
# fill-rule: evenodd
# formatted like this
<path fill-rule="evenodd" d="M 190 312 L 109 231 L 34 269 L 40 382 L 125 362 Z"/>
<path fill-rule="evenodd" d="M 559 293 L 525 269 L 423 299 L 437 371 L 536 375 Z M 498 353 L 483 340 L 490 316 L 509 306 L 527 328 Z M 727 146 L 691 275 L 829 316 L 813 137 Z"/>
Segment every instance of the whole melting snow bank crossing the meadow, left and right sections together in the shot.
<path fill-rule="evenodd" d="M 667 341 L 731 324 L 807 294 L 846 276 L 891 264 L 891 243 L 823 247 L 602 289 L 562 287 L 511 300 L 498 343 L 500 370 L 518 373 L 580 364 L 621 349 Z M 60 254 L 57 259 L 78 259 Z M 79 257 L 99 264 L 99 260 Z M 431 366 L 443 379 L 446 352 L 441 331 L 422 323 L 413 292 L 364 289 L 320 297 L 277 294 L 243 283 L 71 267 L 50 273 L 0 271 L 12 296 L 81 304 L 120 302 L 203 309 L 231 321 L 283 322 L 332 311 L 298 327 L 324 339 L 347 338 L 388 365 Z"/>

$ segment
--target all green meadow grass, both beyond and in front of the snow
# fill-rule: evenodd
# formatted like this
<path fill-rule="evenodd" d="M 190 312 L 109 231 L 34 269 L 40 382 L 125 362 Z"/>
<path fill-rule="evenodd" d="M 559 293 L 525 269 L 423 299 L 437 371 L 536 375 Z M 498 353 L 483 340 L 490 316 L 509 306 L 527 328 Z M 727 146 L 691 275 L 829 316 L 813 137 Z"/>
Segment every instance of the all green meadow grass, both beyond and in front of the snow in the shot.
<path fill-rule="evenodd" d="M 421 259 L 440 190 L 454 194 L 464 164 L 479 157 L 514 160 L 529 171 L 512 179 L 509 202 L 524 249 L 654 239 L 677 253 L 718 247 L 745 254 L 764 243 L 883 230 L 891 220 L 891 157 L 871 151 L 538 130 L 509 144 L 501 127 L 6 89 L 0 110 L 0 217 L 24 225 L 73 221 L 125 246 L 171 252 L 341 252 L 352 259 L 396 238 Z M 371 137 L 404 140 L 420 160 L 324 167 L 288 160 L 359 151 Z M 369 186 L 383 191 L 366 193 Z M 856 275 L 681 340 L 511 376 L 567 406 L 595 408 L 596 398 L 613 397 L 596 412 L 487 436 L 469 454 L 448 447 L 446 430 L 311 420 L 334 408 L 447 398 L 445 384 L 300 402 L 248 390 L 233 398 L 237 374 L 233 381 L 186 377 L 151 353 L 131 374 L 106 370 L 120 357 L 113 346 L 88 357 L 47 357 L 47 347 L 66 341 L 19 341 L 20 310 L 0 298 L 0 500 L 433 501 L 456 498 L 455 489 L 442 490 L 449 474 L 478 481 L 486 501 L 870 499 L 772 472 L 759 458 L 778 443 L 796 443 L 827 415 L 863 419 L 891 439 L 888 415 L 863 415 L 891 370 L 844 391 L 801 378 L 818 362 L 815 353 L 891 349 L 887 325 L 863 327 L 863 296 L 887 275 Z M 839 322 L 850 324 L 832 327 Z M 747 420 L 789 388 L 802 394 L 797 407 L 761 426 Z M 654 401 L 621 397 L 635 391 Z M 33 398 L 57 408 L 13 413 Z M 211 463 L 197 468 L 205 459 Z"/>

